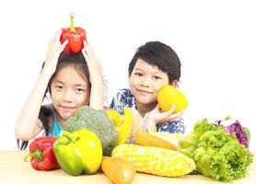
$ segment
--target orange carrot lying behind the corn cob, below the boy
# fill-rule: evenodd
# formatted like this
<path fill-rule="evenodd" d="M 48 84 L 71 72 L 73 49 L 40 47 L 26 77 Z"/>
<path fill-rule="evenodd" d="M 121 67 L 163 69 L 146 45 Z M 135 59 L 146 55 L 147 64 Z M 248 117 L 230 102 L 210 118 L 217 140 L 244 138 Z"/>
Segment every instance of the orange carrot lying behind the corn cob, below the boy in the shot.
<path fill-rule="evenodd" d="M 137 144 L 145 145 L 145 146 L 154 146 L 154 147 L 177 150 L 177 145 L 172 144 L 148 132 L 136 132 L 135 142 Z"/>

